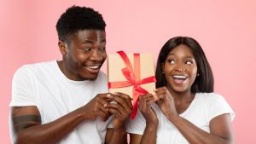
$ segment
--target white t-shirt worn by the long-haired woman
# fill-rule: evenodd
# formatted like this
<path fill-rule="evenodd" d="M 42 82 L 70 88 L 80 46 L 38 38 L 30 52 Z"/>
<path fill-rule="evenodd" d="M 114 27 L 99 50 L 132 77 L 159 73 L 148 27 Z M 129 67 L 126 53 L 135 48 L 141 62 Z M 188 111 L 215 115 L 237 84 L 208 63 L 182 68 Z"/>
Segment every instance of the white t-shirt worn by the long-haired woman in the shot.
<path fill-rule="evenodd" d="M 189 144 L 175 125 L 160 111 L 160 108 L 156 104 L 152 107 L 159 119 L 157 144 Z M 224 113 L 230 113 L 231 120 L 235 118 L 235 113 L 222 95 L 216 93 L 196 93 L 195 99 L 180 116 L 187 119 L 192 124 L 195 124 L 201 130 L 210 132 L 209 124 L 211 119 Z M 142 113 L 138 111 L 136 118 L 130 120 L 127 124 L 127 132 L 143 135 L 143 131 L 146 127 L 145 123 L 146 121 Z"/>

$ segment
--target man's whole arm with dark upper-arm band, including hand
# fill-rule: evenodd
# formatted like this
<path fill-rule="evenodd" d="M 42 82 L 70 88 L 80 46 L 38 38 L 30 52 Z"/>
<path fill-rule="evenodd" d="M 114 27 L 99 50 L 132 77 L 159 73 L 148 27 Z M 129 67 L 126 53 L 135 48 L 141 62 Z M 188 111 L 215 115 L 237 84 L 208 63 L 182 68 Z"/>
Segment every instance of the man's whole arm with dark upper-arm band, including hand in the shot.
<path fill-rule="evenodd" d="M 40 113 L 35 106 L 11 107 L 11 125 L 15 132 L 15 143 L 54 144 L 61 141 L 84 120 L 95 119 L 97 116 L 106 120 L 108 112 L 104 107 L 107 103 L 105 99 L 107 95 L 97 95 L 84 107 L 48 124 L 41 123 Z"/>

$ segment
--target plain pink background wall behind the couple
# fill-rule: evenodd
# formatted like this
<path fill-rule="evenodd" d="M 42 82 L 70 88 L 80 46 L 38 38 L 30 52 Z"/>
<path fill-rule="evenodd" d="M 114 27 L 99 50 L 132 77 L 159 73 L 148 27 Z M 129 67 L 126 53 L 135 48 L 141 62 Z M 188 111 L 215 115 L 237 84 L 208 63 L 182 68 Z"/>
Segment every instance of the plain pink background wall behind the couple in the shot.
<path fill-rule="evenodd" d="M 60 59 L 55 23 L 73 4 L 92 7 L 107 22 L 107 49 L 159 53 L 170 37 L 195 37 L 215 76 L 215 91 L 236 112 L 236 143 L 256 141 L 256 1 L 254 0 L 6 0 L 0 1 L 0 143 L 9 144 L 9 101 L 15 70 Z M 106 65 L 103 66 L 106 72 Z M 254 95 L 254 96 L 253 96 Z"/>

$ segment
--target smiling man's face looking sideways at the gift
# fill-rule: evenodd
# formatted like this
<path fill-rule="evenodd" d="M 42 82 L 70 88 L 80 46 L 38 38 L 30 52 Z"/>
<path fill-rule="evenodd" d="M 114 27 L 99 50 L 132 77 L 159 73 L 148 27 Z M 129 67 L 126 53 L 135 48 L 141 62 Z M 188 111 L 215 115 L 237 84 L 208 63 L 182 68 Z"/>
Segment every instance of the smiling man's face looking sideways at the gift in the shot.
<path fill-rule="evenodd" d="M 67 78 L 82 81 L 95 80 L 107 58 L 106 33 L 102 30 L 82 30 L 65 43 L 62 72 Z"/>

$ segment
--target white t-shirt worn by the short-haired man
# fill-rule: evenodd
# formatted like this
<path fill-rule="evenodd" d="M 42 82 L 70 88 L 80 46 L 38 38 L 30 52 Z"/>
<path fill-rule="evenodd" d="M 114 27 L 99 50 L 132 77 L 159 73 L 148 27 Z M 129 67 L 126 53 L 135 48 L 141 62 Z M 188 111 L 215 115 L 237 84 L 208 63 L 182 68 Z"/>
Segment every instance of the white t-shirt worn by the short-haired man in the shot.
<path fill-rule="evenodd" d="M 108 92 L 108 80 L 100 72 L 96 80 L 73 81 L 59 68 L 56 60 L 26 65 L 15 72 L 9 107 L 37 106 L 42 124 L 47 124 L 83 107 L 97 94 Z M 109 120 L 99 118 L 79 124 L 61 144 L 103 143 Z M 10 130 L 12 141 L 13 132 Z"/>

